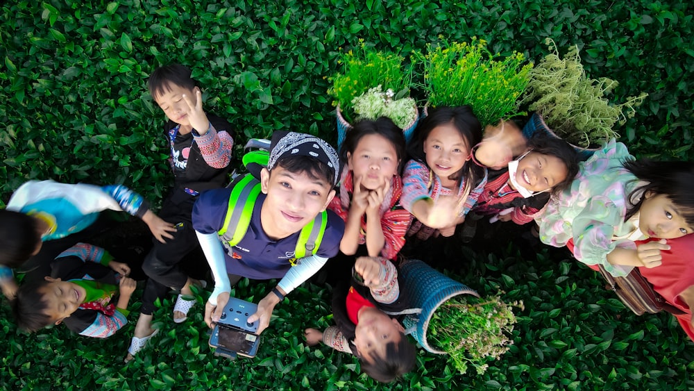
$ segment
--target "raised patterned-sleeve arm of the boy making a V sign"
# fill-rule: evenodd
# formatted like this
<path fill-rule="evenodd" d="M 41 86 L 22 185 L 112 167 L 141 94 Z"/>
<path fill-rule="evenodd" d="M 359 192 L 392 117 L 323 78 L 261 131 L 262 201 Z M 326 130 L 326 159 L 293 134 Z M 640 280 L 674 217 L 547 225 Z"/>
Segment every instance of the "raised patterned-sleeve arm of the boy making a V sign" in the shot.
<path fill-rule="evenodd" d="M 203 94 L 196 88 L 195 97 L 183 94 L 188 106 L 188 120 L 194 128 L 193 137 L 200 148 L 203 160 L 212 168 L 224 168 L 231 161 L 234 140 L 226 131 L 217 131 L 203 110 Z M 195 100 L 193 100 L 195 99 Z"/>

